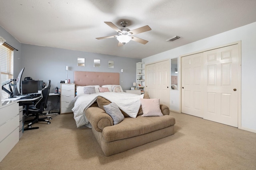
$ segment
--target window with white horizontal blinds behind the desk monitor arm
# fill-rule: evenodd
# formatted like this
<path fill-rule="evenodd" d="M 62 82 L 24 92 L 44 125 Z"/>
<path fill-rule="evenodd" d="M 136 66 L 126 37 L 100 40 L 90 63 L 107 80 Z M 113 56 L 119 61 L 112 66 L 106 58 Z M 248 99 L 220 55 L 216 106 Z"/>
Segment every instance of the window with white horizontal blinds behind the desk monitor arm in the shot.
<path fill-rule="evenodd" d="M 5 43 L 0 45 L 0 68 L 1 68 L 1 81 L 13 78 L 13 51 L 14 49 Z M 9 85 L 4 86 L 9 89 Z M 2 98 L 8 98 L 9 94 L 4 92 L 1 87 Z"/>

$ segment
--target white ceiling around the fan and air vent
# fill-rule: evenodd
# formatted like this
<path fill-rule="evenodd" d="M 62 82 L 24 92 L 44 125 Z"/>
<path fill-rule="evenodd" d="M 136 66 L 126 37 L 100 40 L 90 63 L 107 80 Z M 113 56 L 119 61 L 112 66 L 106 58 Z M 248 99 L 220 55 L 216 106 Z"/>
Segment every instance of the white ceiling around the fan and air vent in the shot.
<path fill-rule="evenodd" d="M 106 25 L 151 31 L 117 47 Z M 20 43 L 142 59 L 256 21 L 256 0 L 1 0 L 0 25 Z M 181 38 L 167 42 L 175 35 Z M 0 35 L 1 36 L 1 35 Z M 7 42 L 8 43 L 8 42 Z"/>

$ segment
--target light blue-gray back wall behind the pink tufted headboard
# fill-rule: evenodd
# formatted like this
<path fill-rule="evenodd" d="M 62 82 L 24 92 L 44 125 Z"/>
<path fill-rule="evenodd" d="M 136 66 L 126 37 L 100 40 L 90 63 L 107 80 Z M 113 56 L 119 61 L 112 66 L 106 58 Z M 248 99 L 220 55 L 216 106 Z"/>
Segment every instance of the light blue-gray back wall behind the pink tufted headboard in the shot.
<path fill-rule="evenodd" d="M 28 44 L 22 44 L 21 51 L 21 66 L 25 68 L 22 79 L 32 77 L 33 80 L 44 80 L 44 82 L 50 79 L 51 92 L 54 92 L 56 86 L 60 88 L 60 80 L 66 79 L 66 66 L 69 66 L 68 79 L 71 83 L 74 82 L 74 71 L 118 72 L 120 85 L 122 78 L 122 88 L 128 89 L 136 80 L 136 63 L 141 62 L 141 59 Z M 77 57 L 85 58 L 84 67 L 77 66 Z M 100 67 L 94 67 L 94 59 L 100 59 Z M 108 68 L 109 60 L 114 61 L 114 68 Z M 121 69 L 124 70 L 122 74 Z"/>

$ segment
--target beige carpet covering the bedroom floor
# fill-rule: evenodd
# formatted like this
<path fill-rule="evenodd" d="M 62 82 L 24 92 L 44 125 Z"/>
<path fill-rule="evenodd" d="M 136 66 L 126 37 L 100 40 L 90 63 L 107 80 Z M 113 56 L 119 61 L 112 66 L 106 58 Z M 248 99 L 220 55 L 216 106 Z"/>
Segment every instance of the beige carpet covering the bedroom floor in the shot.
<path fill-rule="evenodd" d="M 76 128 L 73 114 L 24 131 L 0 162 L 1 170 L 255 170 L 256 133 L 183 113 L 172 136 L 105 157 L 91 129 Z M 35 125 L 34 125 L 35 126 Z"/>

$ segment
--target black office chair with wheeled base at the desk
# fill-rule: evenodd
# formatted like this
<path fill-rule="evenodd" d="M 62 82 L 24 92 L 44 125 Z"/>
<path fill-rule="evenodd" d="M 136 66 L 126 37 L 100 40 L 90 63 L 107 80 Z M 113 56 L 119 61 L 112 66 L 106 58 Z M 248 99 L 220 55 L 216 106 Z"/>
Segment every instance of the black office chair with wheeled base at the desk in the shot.
<path fill-rule="evenodd" d="M 28 106 L 28 115 L 29 116 L 35 116 L 34 119 L 27 120 L 25 122 L 29 122 L 27 124 L 27 128 L 24 128 L 24 131 L 26 130 L 32 130 L 32 129 L 38 129 L 39 127 L 32 127 L 34 123 L 37 123 L 38 121 L 46 121 L 47 124 L 50 124 L 50 120 L 52 120 L 51 116 L 48 117 L 40 117 L 39 115 L 42 115 L 43 111 L 46 109 L 47 100 L 50 93 L 50 87 L 51 87 L 51 80 L 48 80 L 48 85 L 42 90 L 42 98 L 34 105 L 34 106 Z"/>

